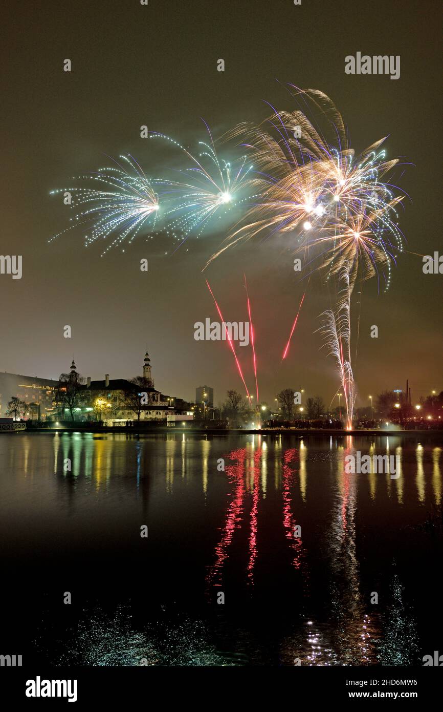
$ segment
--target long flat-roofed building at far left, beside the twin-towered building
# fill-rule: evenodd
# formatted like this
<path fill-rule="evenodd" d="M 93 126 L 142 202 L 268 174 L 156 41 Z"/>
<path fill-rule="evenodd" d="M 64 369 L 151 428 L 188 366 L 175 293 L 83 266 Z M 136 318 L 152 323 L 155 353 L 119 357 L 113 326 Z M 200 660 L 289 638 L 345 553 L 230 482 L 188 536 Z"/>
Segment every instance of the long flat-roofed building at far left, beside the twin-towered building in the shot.
<path fill-rule="evenodd" d="M 16 373 L 0 373 L 0 417 L 5 417 L 13 397 L 19 398 L 32 408 L 23 412 L 23 419 L 36 419 L 40 412 L 45 420 L 53 412 L 53 399 L 58 381 L 37 376 L 21 376 Z"/>

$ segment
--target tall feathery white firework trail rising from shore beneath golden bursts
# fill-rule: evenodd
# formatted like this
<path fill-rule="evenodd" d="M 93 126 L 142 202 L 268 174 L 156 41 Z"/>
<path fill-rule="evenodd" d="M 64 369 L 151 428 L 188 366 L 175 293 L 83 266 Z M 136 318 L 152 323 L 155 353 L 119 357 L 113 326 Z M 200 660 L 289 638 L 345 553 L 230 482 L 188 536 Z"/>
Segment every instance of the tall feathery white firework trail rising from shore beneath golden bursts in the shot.
<path fill-rule="evenodd" d="M 339 285 L 341 288 L 336 312 L 331 309 L 324 312 L 324 326 L 320 331 L 329 350 L 328 355 L 336 360 L 346 404 L 346 428 L 351 430 L 356 387 L 351 367 L 351 288 L 348 265 L 341 269 Z"/>

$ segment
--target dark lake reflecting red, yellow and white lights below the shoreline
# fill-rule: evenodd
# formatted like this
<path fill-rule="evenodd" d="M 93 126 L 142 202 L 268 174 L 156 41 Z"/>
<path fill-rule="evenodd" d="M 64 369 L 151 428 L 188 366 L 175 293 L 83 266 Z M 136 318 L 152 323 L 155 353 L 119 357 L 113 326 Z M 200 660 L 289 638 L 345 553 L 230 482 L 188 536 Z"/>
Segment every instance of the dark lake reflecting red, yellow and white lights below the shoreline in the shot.
<path fill-rule="evenodd" d="M 399 476 L 346 473 L 356 451 Z M 2 647 L 421 666 L 442 641 L 441 456 L 426 433 L 1 434 Z"/>

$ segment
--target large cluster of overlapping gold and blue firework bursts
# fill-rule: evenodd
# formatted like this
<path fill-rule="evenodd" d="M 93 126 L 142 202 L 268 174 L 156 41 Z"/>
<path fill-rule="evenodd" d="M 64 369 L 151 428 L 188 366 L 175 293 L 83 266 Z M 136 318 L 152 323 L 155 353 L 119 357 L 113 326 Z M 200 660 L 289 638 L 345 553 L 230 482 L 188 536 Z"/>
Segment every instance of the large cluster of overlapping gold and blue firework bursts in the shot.
<path fill-rule="evenodd" d="M 356 160 L 331 100 L 314 90 L 298 95 L 320 110 L 326 131 L 299 110 L 275 112 L 269 130 L 247 124 L 234 130 L 256 166 L 252 186 L 260 199 L 209 262 L 240 240 L 287 234 L 312 271 L 329 277 L 348 264 L 352 290 L 357 276 L 367 279 L 380 270 L 388 288 L 391 261 L 402 251 L 395 209 L 402 196 L 381 178 L 397 159 L 385 159 L 383 139 Z"/>

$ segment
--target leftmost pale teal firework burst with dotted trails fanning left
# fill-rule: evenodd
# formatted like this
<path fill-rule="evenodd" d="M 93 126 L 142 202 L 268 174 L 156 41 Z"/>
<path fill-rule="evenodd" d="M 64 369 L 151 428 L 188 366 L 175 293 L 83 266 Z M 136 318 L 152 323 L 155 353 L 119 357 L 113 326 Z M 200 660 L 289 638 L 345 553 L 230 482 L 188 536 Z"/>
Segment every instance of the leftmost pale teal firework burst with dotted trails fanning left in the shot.
<path fill-rule="evenodd" d="M 100 168 L 97 173 L 80 177 L 81 182 L 94 182 L 94 187 L 80 185 L 51 191 L 51 194 L 73 196 L 73 207 L 82 207 L 75 218 L 70 219 L 73 224 L 51 240 L 81 226 L 88 231 L 85 246 L 114 235 L 102 253 L 105 254 L 126 239 L 131 243 L 146 221 L 155 225 L 159 199 L 151 182 L 132 156 L 122 155 L 120 159 L 127 167 L 116 161 L 117 167 Z"/>

